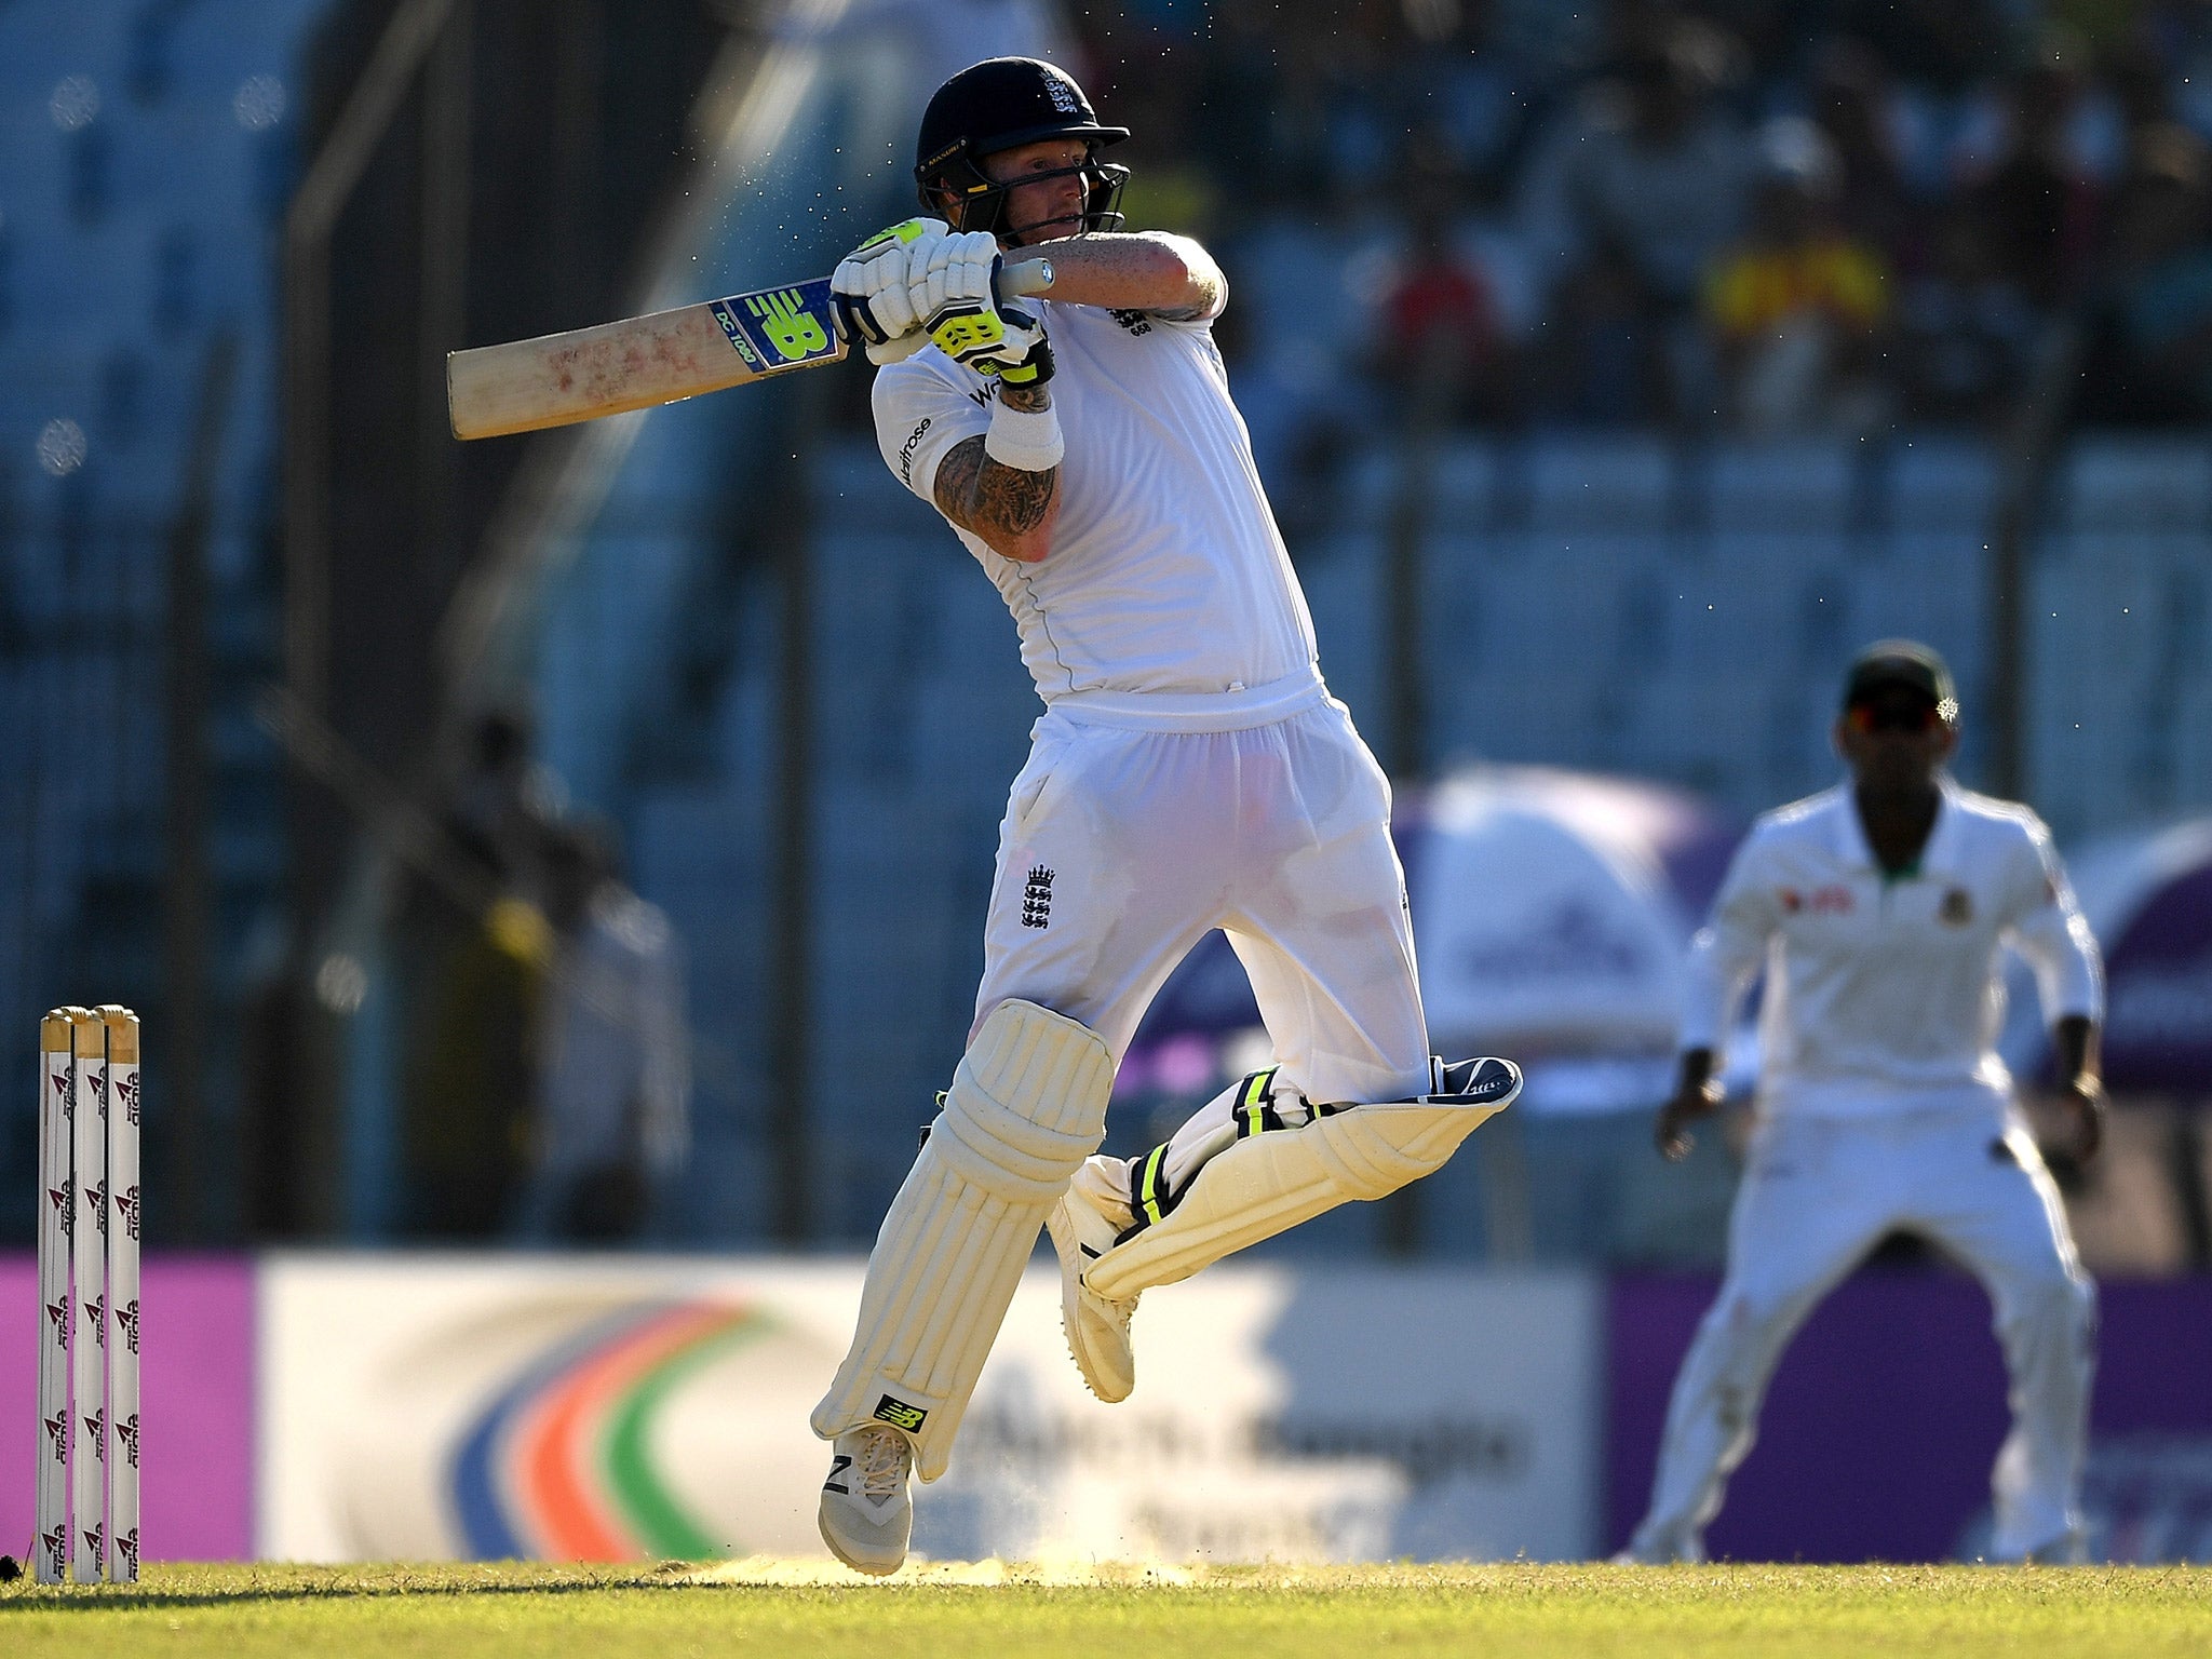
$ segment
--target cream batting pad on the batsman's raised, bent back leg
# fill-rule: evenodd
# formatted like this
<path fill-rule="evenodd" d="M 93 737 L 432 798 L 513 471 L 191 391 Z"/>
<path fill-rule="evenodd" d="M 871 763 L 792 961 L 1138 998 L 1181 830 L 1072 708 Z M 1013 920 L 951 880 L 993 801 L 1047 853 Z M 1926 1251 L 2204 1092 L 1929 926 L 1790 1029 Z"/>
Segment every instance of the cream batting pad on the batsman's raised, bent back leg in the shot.
<path fill-rule="evenodd" d="M 1084 1285 L 1128 1301 L 1338 1203 L 1396 1192 L 1444 1168 L 1460 1141 L 1513 1104 L 1520 1084 L 1511 1060 L 1482 1060 L 1462 1095 L 1352 1106 L 1243 1137 L 1210 1157 L 1159 1221 L 1093 1261 Z"/>

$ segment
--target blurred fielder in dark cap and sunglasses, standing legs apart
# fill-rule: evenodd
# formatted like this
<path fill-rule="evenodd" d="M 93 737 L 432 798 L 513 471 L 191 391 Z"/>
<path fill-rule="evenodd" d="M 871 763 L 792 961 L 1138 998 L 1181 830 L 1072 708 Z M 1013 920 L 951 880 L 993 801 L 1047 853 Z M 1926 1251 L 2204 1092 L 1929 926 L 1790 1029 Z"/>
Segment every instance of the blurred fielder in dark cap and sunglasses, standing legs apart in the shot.
<path fill-rule="evenodd" d="M 1993 1495 L 2002 1559 L 2075 1559 L 2095 1292 L 1997 1060 L 2000 947 L 2035 969 L 2073 1108 L 2104 1133 L 2101 969 L 2051 834 L 1969 794 L 1951 672 L 1927 646 L 1869 646 L 1845 681 L 1851 781 L 1770 812 L 1690 947 L 1681 1077 L 1659 1150 L 1721 1104 L 1717 1051 L 1765 967 L 1759 1117 L 1728 1274 L 1674 1378 L 1650 1513 L 1626 1559 L 1701 1562 L 1728 1475 L 1790 1336 L 1882 1234 L 1918 1232 L 1995 1303 L 2013 1431 Z"/>

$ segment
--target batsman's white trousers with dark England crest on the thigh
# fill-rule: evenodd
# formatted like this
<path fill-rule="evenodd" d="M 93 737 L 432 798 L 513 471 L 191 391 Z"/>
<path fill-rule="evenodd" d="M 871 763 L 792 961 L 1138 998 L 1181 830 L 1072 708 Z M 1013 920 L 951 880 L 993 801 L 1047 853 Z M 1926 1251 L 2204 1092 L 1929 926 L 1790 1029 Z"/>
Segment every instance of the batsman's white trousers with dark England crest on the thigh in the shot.
<path fill-rule="evenodd" d="M 1168 973 L 1221 927 L 1281 1082 L 1318 1102 L 1427 1088 L 1389 783 L 1343 703 L 1237 732 L 1141 732 L 1048 710 L 998 838 L 975 1026 L 1006 998 L 1115 1064 Z"/>

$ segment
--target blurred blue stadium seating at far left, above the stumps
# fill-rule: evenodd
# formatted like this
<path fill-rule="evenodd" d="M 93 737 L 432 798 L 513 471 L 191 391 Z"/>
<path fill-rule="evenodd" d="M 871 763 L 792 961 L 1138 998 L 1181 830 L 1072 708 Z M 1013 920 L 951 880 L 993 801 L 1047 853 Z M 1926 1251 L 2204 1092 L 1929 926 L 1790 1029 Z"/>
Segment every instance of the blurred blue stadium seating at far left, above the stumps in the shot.
<path fill-rule="evenodd" d="M 237 367 L 210 480 L 201 641 L 212 1031 L 234 1029 L 246 958 L 272 925 L 279 761 L 248 710 L 276 657 L 288 84 L 323 9 L 0 7 L 0 1066 L 13 1075 L 29 1075 L 35 1015 L 64 987 L 100 984 L 164 1015 L 168 560 L 206 365 L 226 336 Z M 234 1048 L 217 1037 L 206 1060 L 210 1099 L 234 1099 Z M 164 1064 L 153 1044 L 153 1099 Z M 166 1133 L 159 1113 L 148 1133 Z M 11 1217 L 29 1214 L 27 1146 L 0 1146 Z M 175 1210 L 157 1225 L 173 1223 Z"/>

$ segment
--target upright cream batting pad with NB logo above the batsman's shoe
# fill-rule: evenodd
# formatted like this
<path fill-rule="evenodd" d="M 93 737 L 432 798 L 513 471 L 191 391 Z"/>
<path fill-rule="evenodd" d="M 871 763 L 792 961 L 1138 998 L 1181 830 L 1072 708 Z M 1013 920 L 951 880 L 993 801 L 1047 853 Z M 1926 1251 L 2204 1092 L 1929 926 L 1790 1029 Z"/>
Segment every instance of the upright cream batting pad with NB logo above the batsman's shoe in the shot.
<path fill-rule="evenodd" d="M 911 1436 L 922 1480 L 945 1473 L 1037 1230 L 1106 1137 L 1110 1091 L 1095 1031 L 1035 1002 L 991 1011 L 876 1234 L 814 1433 L 889 1422 Z"/>

